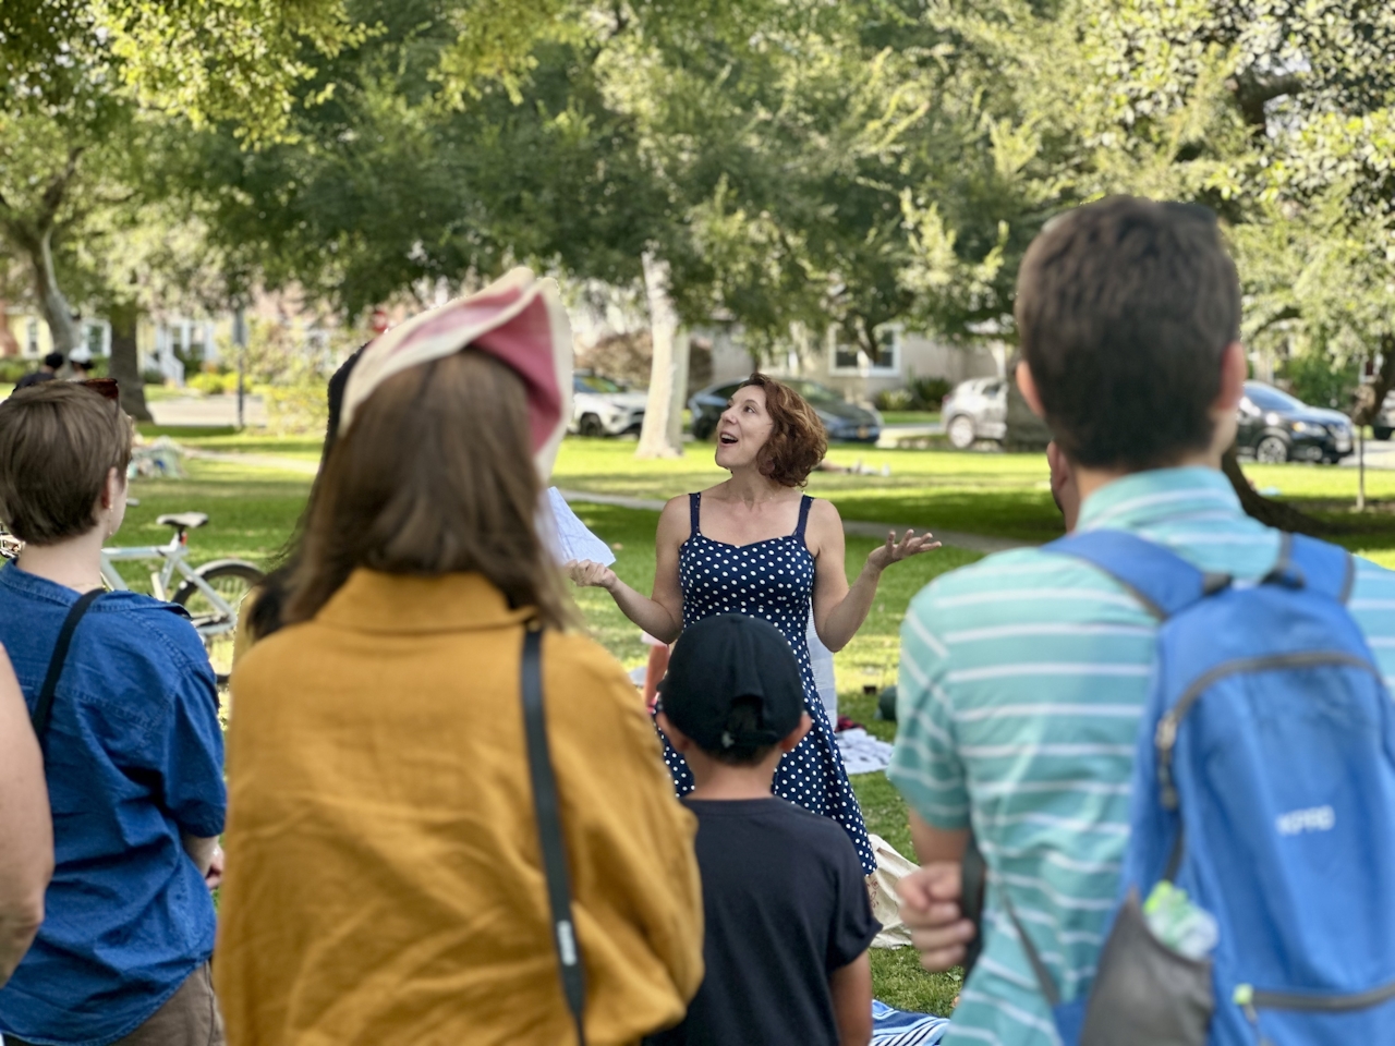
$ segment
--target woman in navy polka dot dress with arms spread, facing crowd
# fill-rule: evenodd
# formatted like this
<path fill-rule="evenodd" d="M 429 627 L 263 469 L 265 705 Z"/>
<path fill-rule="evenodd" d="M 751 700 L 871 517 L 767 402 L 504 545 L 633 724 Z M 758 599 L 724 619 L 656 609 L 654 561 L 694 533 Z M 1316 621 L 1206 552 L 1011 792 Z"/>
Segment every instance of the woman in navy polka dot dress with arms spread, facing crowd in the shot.
<path fill-rule="evenodd" d="M 668 643 L 685 625 L 717 614 L 749 614 L 780 629 L 799 661 L 813 728 L 780 761 L 773 791 L 838 821 L 870 874 L 876 859 L 862 810 L 813 681 L 805 640 L 809 611 L 812 605 L 823 643 L 841 650 L 866 619 L 882 570 L 939 543 L 930 534 L 907 531 L 900 541 L 889 534 L 848 586 L 838 510 L 799 491 L 826 450 L 823 424 L 809 404 L 780 382 L 752 374 L 717 425 L 717 464 L 731 478 L 674 498 L 658 519 L 653 598 L 600 563 L 572 563 L 571 573 L 578 584 L 610 591 L 631 621 Z M 667 741 L 664 760 L 678 794 L 692 791 L 692 774 Z"/>

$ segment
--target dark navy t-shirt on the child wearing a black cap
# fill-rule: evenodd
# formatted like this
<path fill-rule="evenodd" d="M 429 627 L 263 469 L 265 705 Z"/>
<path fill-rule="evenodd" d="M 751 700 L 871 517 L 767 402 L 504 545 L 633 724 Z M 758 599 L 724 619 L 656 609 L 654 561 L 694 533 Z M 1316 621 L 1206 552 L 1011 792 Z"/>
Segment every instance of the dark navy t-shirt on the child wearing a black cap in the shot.
<path fill-rule="evenodd" d="M 829 975 L 882 926 L 848 834 L 784 799 L 684 799 L 698 814 L 706 975 L 650 1046 L 837 1046 Z"/>

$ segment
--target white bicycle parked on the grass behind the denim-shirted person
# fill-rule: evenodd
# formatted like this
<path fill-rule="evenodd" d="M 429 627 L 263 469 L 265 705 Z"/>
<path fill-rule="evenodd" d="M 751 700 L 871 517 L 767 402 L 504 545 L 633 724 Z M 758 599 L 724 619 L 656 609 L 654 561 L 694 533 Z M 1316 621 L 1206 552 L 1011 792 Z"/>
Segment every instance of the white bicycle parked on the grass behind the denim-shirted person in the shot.
<path fill-rule="evenodd" d="M 237 615 L 243 600 L 261 584 L 265 575 L 246 559 L 213 559 L 202 566 L 188 565 L 188 531 L 208 523 L 202 512 L 173 512 L 158 516 L 160 526 L 174 533 L 163 545 L 119 545 L 102 549 L 102 579 L 109 589 L 130 589 L 116 569 L 119 562 L 148 562 L 163 559 L 159 570 L 151 572 L 151 594 L 156 600 L 174 602 L 193 618 L 194 628 L 204 640 L 208 661 L 226 686 L 233 671 L 233 640 L 237 635 Z M 183 579 L 170 593 L 174 575 Z"/>

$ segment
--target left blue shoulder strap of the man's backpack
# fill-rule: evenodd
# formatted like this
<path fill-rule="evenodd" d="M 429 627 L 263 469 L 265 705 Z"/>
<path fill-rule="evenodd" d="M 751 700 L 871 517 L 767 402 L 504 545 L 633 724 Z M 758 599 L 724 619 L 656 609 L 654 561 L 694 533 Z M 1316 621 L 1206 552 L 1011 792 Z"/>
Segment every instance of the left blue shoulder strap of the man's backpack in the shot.
<path fill-rule="evenodd" d="M 1228 575 L 1208 575 L 1162 545 L 1123 530 L 1087 530 L 1052 541 L 1046 552 L 1059 552 L 1098 566 L 1159 621 L 1186 609 L 1230 583 Z"/>

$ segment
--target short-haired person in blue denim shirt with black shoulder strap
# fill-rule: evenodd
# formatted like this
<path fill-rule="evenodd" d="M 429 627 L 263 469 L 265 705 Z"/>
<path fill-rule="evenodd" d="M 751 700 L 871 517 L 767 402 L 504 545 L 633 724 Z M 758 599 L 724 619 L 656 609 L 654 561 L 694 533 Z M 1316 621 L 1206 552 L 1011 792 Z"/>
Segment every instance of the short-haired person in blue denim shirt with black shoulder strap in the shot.
<path fill-rule="evenodd" d="M 68 609 L 100 587 L 126 510 L 131 427 L 91 388 L 0 404 L 0 644 L 32 713 Z M 222 873 L 223 741 L 198 633 L 173 605 L 106 593 L 73 636 L 42 736 L 54 872 L 29 953 L 0 989 L 6 1046 L 211 1046 L 209 887 Z"/>

